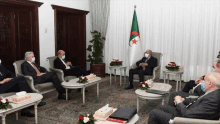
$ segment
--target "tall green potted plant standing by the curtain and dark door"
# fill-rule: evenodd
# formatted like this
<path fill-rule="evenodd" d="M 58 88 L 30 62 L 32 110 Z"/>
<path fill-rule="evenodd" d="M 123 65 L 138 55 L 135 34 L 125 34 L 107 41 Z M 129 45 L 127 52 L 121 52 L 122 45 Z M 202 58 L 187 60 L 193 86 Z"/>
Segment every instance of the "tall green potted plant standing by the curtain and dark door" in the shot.
<path fill-rule="evenodd" d="M 103 43 L 105 37 L 101 36 L 101 33 L 98 31 L 91 32 L 93 39 L 89 42 L 92 43 L 88 46 L 87 50 L 91 52 L 88 55 L 87 62 L 90 64 L 90 72 L 96 74 L 100 77 L 105 77 L 105 63 L 103 63 Z"/>

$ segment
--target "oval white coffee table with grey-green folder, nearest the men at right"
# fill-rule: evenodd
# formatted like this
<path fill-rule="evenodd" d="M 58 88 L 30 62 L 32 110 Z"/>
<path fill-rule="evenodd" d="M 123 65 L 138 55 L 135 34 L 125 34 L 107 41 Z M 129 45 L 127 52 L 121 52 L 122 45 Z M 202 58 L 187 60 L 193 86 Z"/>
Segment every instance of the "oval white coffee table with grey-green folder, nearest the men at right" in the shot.
<path fill-rule="evenodd" d="M 150 89 L 161 90 L 161 91 L 170 91 L 172 86 L 170 84 L 154 82 L 153 86 Z M 146 90 L 137 89 L 135 90 L 137 94 L 137 111 L 139 111 L 139 98 L 142 99 L 162 99 L 162 105 L 164 104 L 164 96 L 154 93 L 148 93 Z"/>

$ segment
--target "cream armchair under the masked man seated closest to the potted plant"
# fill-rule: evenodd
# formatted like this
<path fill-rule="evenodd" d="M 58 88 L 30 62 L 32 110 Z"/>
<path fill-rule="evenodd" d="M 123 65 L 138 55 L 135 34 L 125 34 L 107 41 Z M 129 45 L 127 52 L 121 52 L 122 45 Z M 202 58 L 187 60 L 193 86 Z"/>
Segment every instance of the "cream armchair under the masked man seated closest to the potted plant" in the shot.
<path fill-rule="evenodd" d="M 52 56 L 52 57 L 48 57 L 47 58 L 47 61 L 49 61 L 49 64 L 50 64 L 50 70 L 52 72 L 55 72 L 58 76 L 58 78 L 60 79 L 61 82 L 64 82 L 64 81 L 69 81 L 71 79 L 74 79 L 76 78 L 76 76 L 66 76 L 64 77 L 64 72 L 63 70 L 61 69 L 56 69 L 54 68 L 54 60 L 57 58 L 57 56 Z"/>

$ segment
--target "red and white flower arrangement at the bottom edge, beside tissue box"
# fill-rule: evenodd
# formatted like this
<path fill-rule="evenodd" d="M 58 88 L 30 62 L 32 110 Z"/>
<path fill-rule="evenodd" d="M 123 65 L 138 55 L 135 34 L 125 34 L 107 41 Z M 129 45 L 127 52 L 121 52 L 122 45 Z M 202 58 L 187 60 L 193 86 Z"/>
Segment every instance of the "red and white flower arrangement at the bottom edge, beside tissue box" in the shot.
<path fill-rule="evenodd" d="M 95 124 L 95 119 L 93 117 L 93 114 L 85 114 L 79 116 L 79 122 L 77 124 Z"/>

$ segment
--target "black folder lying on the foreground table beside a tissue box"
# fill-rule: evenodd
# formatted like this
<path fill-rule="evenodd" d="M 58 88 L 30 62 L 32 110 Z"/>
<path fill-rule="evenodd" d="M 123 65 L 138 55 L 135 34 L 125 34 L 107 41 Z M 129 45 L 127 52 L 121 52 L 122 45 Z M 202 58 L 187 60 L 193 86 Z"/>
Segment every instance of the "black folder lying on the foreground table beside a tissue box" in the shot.
<path fill-rule="evenodd" d="M 137 108 L 118 108 L 109 118 L 125 120 L 127 122 L 137 114 Z"/>

